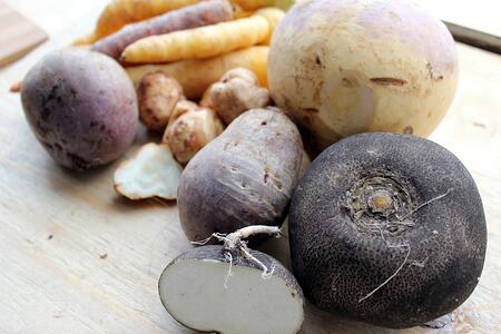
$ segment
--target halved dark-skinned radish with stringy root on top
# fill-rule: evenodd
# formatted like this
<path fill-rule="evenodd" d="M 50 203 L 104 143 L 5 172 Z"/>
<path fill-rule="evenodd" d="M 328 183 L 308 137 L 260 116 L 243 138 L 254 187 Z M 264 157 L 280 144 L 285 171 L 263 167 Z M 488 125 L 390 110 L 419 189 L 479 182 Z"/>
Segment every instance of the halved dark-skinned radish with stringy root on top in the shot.
<path fill-rule="evenodd" d="M 271 226 L 249 226 L 214 237 L 224 245 L 202 246 L 175 258 L 158 282 L 161 303 L 180 324 L 222 334 L 294 334 L 304 320 L 296 279 L 275 258 L 249 249 L 245 238 Z"/>

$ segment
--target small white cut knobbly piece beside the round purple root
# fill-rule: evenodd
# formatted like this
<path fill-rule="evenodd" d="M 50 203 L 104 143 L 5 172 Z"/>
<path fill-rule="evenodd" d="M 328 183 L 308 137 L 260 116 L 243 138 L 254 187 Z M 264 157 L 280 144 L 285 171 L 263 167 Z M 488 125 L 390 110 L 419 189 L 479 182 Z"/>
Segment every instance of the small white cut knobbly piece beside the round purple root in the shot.
<path fill-rule="evenodd" d="M 115 171 L 115 189 L 130 199 L 176 199 L 181 173 L 167 145 L 150 143 Z"/>

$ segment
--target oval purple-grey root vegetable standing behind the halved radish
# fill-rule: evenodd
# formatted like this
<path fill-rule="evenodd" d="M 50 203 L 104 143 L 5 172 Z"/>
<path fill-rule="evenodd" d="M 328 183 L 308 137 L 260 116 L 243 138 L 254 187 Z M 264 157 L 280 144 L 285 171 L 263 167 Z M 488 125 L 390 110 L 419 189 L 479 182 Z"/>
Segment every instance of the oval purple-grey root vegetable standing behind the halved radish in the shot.
<path fill-rule="evenodd" d="M 200 240 L 248 225 L 279 226 L 299 178 L 303 144 L 279 109 L 252 109 L 205 146 L 177 194 L 186 236 Z"/>

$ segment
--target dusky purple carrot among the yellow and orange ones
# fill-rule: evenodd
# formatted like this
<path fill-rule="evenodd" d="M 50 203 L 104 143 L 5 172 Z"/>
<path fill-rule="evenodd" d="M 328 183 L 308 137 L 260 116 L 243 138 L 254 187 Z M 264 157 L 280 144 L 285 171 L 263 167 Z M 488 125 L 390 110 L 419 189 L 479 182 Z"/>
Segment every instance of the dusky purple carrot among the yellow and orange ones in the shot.
<path fill-rule="evenodd" d="M 96 42 L 92 50 L 118 59 L 127 46 L 141 38 L 214 24 L 232 19 L 233 8 L 227 0 L 202 1 L 141 22 L 128 24 Z"/>

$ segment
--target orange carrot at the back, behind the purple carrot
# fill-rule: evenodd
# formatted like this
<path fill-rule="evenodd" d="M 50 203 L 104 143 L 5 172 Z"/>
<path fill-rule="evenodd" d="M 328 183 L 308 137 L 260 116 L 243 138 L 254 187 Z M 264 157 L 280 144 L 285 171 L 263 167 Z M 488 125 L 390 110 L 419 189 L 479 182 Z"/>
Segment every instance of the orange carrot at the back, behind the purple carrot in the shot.
<path fill-rule="evenodd" d="M 194 4 L 199 0 L 112 0 L 100 14 L 96 40 L 107 37 L 128 23 L 143 21 L 168 11 Z"/>

